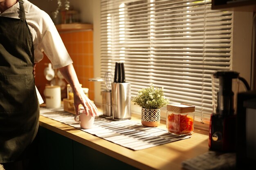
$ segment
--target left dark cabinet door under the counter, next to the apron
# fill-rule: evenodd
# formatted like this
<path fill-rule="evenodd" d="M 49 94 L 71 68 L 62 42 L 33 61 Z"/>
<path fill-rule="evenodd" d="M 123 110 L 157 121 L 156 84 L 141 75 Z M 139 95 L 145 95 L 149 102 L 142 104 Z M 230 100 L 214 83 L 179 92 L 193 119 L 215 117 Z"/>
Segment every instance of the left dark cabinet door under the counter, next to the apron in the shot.
<path fill-rule="evenodd" d="M 40 170 L 73 170 L 73 141 L 39 127 Z"/>

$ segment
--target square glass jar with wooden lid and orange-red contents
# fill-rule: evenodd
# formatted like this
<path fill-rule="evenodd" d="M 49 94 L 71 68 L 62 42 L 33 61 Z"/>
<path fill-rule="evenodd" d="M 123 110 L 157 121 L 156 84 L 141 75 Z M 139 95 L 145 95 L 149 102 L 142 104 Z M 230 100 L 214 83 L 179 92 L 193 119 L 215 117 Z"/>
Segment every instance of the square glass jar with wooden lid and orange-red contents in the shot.
<path fill-rule="evenodd" d="M 184 103 L 167 105 L 166 129 L 175 135 L 191 135 L 194 131 L 195 106 Z"/>

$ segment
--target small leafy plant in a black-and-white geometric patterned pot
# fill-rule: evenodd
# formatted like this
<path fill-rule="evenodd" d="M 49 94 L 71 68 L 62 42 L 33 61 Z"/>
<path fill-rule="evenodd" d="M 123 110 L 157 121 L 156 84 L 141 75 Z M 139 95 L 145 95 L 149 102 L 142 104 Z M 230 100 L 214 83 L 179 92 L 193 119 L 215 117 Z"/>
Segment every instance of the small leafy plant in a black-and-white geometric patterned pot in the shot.
<path fill-rule="evenodd" d="M 150 87 L 139 90 L 132 101 L 141 107 L 141 124 L 156 127 L 160 123 L 160 108 L 167 105 L 169 99 L 164 98 L 163 88 Z"/>

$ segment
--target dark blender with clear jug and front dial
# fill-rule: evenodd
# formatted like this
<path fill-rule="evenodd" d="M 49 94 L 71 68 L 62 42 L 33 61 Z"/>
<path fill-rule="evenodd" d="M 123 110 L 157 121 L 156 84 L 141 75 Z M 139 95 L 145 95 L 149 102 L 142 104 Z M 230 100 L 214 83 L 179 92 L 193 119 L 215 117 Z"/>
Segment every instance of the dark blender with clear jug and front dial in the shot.
<path fill-rule="evenodd" d="M 239 80 L 247 86 L 238 72 L 220 70 L 212 75 L 213 113 L 209 127 L 209 148 L 218 151 L 235 151 L 236 103 Z M 248 87 L 247 87 L 248 89 Z"/>

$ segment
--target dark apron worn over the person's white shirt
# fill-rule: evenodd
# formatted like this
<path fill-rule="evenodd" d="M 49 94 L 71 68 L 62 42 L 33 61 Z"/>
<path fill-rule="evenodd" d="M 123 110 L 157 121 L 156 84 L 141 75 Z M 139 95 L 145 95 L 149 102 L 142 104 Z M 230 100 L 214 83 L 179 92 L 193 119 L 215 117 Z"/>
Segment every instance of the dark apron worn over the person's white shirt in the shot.
<path fill-rule="evenodd" d="M 39 124 L 33 39 L 19 4 L 20 19 L 0 17 L 0 163 L 23 159 Z"/>

